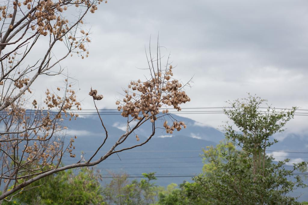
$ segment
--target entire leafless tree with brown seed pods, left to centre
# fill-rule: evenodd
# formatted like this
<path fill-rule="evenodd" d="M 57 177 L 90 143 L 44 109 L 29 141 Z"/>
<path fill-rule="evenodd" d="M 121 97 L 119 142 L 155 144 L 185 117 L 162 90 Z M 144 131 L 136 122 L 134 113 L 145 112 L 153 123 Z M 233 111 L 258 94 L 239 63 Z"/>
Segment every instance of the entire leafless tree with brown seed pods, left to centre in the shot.
<path fill-rule="evenodd" d="M 39 99 L 44 101 L 45 107 L 28 95 L 32 92 L 32 83 L 39 76 L 61 74 L 63 69 L 59 63 L 70 54 L 88 57 L 85 45 L 90 38 L 81 26 L 87 12 L 94 13 L 101 2 L 107 1 L 26 0 L 20 3 L 15 0 L 7 1 L 6 5 L 0 7 L 0 186 L 2 184 L 3 187 L 0 200 L 12 200 L 21 191 L 30 189 L 28 185 L 48 175 L 71 168 L 94 166 L 112 154 L 142 146 L 154 136 L 157 120 L 164 120 L 163 129 L 167 133 L 186 127 L 168 114 L 168 107 L 180 111 L 179 105 L 190 101 L 183 90 L 187 84 L 182 85 L 173 78 L 169 57 L 167 63 L 161 65 L 157 46 L 155 56 L 151 53 L 147 55 L 149 78 L 131 81 L 124 90 L 124 98 L 116 101 L 121 115 L 127 118 L 126 132 L 119 136 L 108 152 L 97 159 L 99 150 L 108 139 L 108 132 L 96 106 L 96 101 L 102 100 L 103 96 L 91 89 L 89 95 L 93 98 L 105 131 L 102 144 L 95 148 L 96 152 L 89 160 L 61 166 L 64 154 L 75 157 L 73 143 L 76 136 L 64 146 L 63 130 L 66 127 L 63 119 L 78 117 L 74 110 L 81 110 L 81 107 L 76 93 L 66 77 L 65 86 L 58 87 L 56 92 L 47 90 L 45 99 Z M 69 14 L 72 18 L 67 17 Z M 41 45 L 46 45 L 46 49 L 41 48 Z M 56 51 L 59 50 L 58 46 L 63 45 L 67 52 L 59 57 L 61 52 Z M 165 120 L 167 116 L 172 121 L 170 125 Z M 132 121 L 137 123 L 130 127 Z M 134 135 L 139 141 L 137 129 L 147 121 L 152 123 L 152 133 L 145 141 L 117 149 L 129 136 Z M 97 160 L 94 160 L 95 156 Z"/>

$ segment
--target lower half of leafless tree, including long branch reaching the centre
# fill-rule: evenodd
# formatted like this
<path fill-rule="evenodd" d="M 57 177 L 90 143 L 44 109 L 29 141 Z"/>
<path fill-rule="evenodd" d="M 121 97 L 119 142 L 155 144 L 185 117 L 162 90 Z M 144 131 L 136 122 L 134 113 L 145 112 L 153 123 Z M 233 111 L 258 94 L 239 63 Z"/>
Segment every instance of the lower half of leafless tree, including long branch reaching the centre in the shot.
<path fill-rule="evenodd" d="M 6 161 L 3 160 L 2 162 L 3 166 L 0 178 L 0 180 L 5 181 L 6 189 L 0 196 L 0 199 L 6 199 L 6 197 L 12 195 L 10 199 L 6 199 L 11 200 L 20 191 L 26 191 L 28 185 L 48 175 L 71 168 L 94 166 L 112 154 L 146 144 L 154 136 L 156 129 L 159 128 L 156 126 L 157 120 L 164 121 L 163 127 L 161 128 L 170 134 L 174 130 L 180 131 L 182 127 L 186 128 L 184 122 L 177 121 L 169 115 L 168 108 L 171 107 L 180 111 L 181 108 L 179 105 L 190 101 L 190 98 L 183 90 L 188 84 L 182 85 L 181 82 L 173 78 L 173 68 L 168 61 L 164 66 L 161 66 L 159 47 L 157 48 L 156 56 L 154 57 L 150 53 L 151 57 L 148 59 L 149 78 L 144 81 L 131 81 L 128 88 L 124 89 L 123 99 L 115 102 L 118 106 L 118 111 L 121 112 L 123 117 L 127 118 L 126 132 L 119 136 L 119 139 L 114 142 L 113 146 L 108 148 L 109 151 L 99 156 L 97 160 L 93 160 L 93 158 L 95 156 L 97 158 L 99 150 L 108 139 L 107 128 L 96 106 L 96 101 L 102 100 L 103 95 L 99 95 L 97 90 L 91 88 L 89 95 L 93 98 L 94 106 L 105 132 L 102 144 L 95 148 L 96 151 L 89 160 L 80 160 L 75 164 L 69 164 L 63 167 L 59 166 L 59 164 L 65 152 L 68 152 L 71 157 L 75 157 L 75 154 L 73 154 L 75 148 L 73 143 L 75 139 L 71 138 L 68 147 L 63 147 L 63 141 L 59 137 L 59 133 L 63 129 L 63 125 L 60 123 L 61 119 L 63 119 L 61 113 L 64 112 L 66 117 L 77 117 L 78 114 L 67 110 L 71 111 L 74 107 L 81 109 L 80 104 L 76 101 L 75 92 L 68 89 L 70 85 L 67 83 L 67 93 L 62 98 L 51 94 L 49 91 L 46 92 L 47 97 L 45 103 L 48 105 L 48 109 L 58 108 L 57 112 L 54 109 L 52 109 L 52 112 L 49 110 L 45 112 L 38 109 L 35 110 L 37 103 L 33 102 L 34 115 L 31 118 L 27 115 L 26 109 L 20 108 L 22 104 L 19 102 L 15 103 L 15 107 L 13 106 L 14 103 L 11 104 L 7 108 L 7 112 L 3 112 L 9 112 L 10 115 L 2 117 L 2 120 L 7 120 L 7 122 L 5 121 L 8 124 L 6 129 L 9 131 L 1 133 L 3 137 L 0 140 L 4 144 L 6 143 L 6 147 L 2 147 L 1 149 L 2 158 L 6 159 Z M 22 112 L 17 111 L 18 109 L 21 109 L 25 114 L 20 114 Z M 18 123 L 10 126 L 9 124 L 12 120 L 7 119 L 7 117 L 12 118 L 13 116 L 16 118 L 14 118 L 14 121 L 18 121 Z M 171 124 L 168 124 L 167 118 L 171 120 Z M 134 126 L 130 126 L 132 125 L 130 124 L 132 121 L 136 121 Z M 152 133 L 146 140 L 131 147 L 117 149 L 129 136 L 133 135 L 136 137 L 137 142 L 140 141 L 138 128 L 146 122 L 152 124 Z M 18 151 L 20 149 L 19 145 L 24 146 L 22 151 Z M 14 157 L 10 157 L 10 154 L 5 152 L 8 148 L 10 148 L 10 153 L 14 153 Z M 12 186 L 11 189 L 7 189 L 9 184 Z"/>

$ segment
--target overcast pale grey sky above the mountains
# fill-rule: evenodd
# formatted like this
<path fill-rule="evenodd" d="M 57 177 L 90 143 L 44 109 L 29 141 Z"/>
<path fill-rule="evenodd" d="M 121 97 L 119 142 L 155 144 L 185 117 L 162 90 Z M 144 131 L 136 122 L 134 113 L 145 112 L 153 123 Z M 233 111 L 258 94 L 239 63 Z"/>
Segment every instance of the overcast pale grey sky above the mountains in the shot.
<path fill-rule="evenodd" d="M 61 64 L 78 80 L 83 108 L 94 108 L 90 86 L 104 95 L 99 108 L 116 108 L 121 87 L 148 75 L 137 68 L 146 68 L 144 46 L 150 35 L 155 44 L 159 33 L 163 52 L 171 52 L 177 66 L 175 77 L 194 76 L 186 90 L 192 101 L 183 107 L 221 107 L 249 92 L 275 107 L 308 109 L 307 1 L 110 0 L 85 22 L 92 33 L 89 57 Z M 183 116 L 216 128 L 226 120 L 222 114 Z M 296 116 L 288 127 L 307 133 L 307 120 Z"/>

